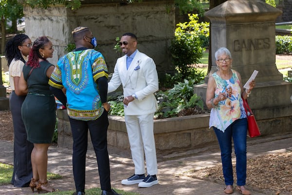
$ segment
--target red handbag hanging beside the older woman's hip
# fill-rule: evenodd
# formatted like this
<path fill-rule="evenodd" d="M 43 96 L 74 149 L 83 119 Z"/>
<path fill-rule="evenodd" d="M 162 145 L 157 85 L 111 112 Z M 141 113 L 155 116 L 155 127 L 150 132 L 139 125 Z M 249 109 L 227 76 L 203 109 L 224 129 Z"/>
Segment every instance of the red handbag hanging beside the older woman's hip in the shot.
<path fill-rule="evenodd" d="M 250 109 L 247 100 L 242 98 L 243 107 L 245 109 L 246 117 L 247 117 L 247 129 L 250 137 L 260 136 L 260 131 L 256 123 L 256 118 Z"/>

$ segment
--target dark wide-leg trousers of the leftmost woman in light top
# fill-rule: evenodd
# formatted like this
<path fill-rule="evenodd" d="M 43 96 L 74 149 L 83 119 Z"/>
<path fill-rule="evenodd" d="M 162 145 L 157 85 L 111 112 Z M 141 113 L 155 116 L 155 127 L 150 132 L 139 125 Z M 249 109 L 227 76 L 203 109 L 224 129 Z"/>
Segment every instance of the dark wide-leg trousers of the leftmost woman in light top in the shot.
<path fill-rule="evenodd" d="M 27 140 L 25 127 L 21 118 L 21 105 L 25 96 L 18 96 L 12 91 L 9 98 L 14 129 L 14 162 L 11 184 L 15 187 L 28 187 L 33 177 L 31 153 L 34 144 Z"/>

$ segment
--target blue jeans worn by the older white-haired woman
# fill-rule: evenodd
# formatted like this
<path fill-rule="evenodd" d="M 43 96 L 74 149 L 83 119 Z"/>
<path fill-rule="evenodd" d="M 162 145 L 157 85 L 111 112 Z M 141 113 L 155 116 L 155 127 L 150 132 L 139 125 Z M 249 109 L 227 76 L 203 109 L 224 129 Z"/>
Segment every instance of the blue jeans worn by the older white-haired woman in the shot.
<path fill-rule="evenodd" d="M 216 127 L 213 127 L 221 150 L 221 160 L 223 176 L 226 185 L 233 185 L 233 170 L 232 170 L 232 138 L 234 142 L 234 151 L 236 155 L 236 174 L 237 185 L 244 186 L 246 180 L 246 134 L 247 134 L 247 119 L 237 119 L 229 125 L 223 133 Z"/>

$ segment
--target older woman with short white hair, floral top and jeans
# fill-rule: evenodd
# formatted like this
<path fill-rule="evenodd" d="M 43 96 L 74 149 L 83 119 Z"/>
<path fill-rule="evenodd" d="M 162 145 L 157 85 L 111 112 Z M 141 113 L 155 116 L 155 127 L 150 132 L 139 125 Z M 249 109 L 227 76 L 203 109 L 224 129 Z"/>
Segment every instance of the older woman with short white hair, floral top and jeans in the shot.
<path fill-rule="evenodd" d="M 233 138 L 237 190 L 243 195 L 250 195 L 250 191 L 245 188 L 247 118 L 242 98 L 249 97 L 256 83 L 253 80 L 249 83 L 249 89 L 243 89 L 240 74 L 231 69 L 232 57 L 227 48 L 219 48 L 215 53 L 215 58 L 218 71 L 208 80 L 206 105 L 211 109 L 209 128 L 213 127 L 221 150 L 226 184 L 224 193 L 233 193 L 234 178 L 231 160 Z"/>

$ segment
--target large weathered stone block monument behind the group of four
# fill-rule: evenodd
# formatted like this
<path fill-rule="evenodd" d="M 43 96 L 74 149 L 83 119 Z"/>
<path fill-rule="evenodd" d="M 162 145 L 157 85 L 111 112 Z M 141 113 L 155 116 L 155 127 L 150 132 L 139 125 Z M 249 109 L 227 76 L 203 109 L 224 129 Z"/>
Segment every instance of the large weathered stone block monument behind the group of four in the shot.
<path fill-rule="evenodd" d="M 39 36 L 48 36 L 54 45 L 54 55 L 48 59 L 56 64 L 73 43 L 71 32 L 77 26 L 89 27 L 97 39 L 97 50 L 113 72 L 116 59 L 121 53 L 113 48 L 116 38 L 132 32 L 138 37 L 139 51 L 150 56 L 159 74 L 173 71 L 168 52 L 175 30 L 175 6 L 173 0 L 143 0 L 126 3 L 123 0 L 82 0 L 76 10 L 64 5 L 52 5 L 44 10 L 25 6 L 25 32 L 34 41 Z"/>

